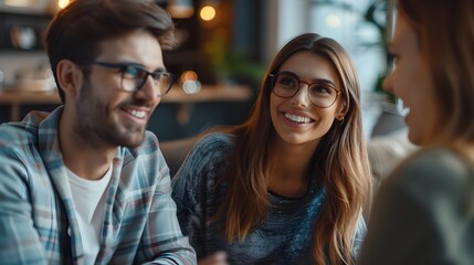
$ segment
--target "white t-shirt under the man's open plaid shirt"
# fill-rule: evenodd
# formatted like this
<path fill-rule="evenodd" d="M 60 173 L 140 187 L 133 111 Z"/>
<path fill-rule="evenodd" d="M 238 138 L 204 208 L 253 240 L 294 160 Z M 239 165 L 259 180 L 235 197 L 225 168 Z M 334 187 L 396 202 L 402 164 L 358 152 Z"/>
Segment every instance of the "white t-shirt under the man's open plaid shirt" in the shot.
<path fill-rule="evenodd" d="M 73 203 L 77 211 L 85 264 L 94 264 L 101 248 L 101 232 L 107 199 L 106 191 L 112 177 L 112 163 L 105 176 L 99 180 L 83 179 L 69 169 L 66 171 Z"/>

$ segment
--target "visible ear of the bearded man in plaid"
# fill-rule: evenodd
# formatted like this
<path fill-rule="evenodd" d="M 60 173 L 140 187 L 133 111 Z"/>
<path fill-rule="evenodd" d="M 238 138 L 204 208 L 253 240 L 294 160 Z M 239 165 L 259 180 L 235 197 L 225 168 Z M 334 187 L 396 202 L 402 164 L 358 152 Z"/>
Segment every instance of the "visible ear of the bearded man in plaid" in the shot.
<path fill-rule="evenodd" d="M 65 95 L 75 96 L 82 86 L 83 72 L 70 60 L 61 60 L 56 65 L 57 85 Z"/>

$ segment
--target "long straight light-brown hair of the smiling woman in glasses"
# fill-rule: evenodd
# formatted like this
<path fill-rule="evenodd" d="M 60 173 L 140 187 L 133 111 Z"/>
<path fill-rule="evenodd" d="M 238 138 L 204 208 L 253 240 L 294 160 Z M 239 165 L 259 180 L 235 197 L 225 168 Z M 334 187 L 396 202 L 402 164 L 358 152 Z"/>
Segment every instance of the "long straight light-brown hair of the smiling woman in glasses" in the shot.
<path fill-rule="evenodd" d="M 211 221 L 225 220 L 223 233 L 229 242 L 243 241 L 265 221 L 270 206 L 267 179 L 272 168 L 272 139 L 275 130 L 270 116 L 272 81 L 293 54 L 309 51 L 327 59 L 339 74 L 346 115 L 334 123 L 312 159 L 312 178 L 322 178 L 326 200 L 315 222 L 313 258 L 316 264 L 354 264 L 352 241 L 362 208 L 370 195 L 370 169 L 362 135 L 360 88 L 352 62 L 334 40 L 307 33 L 289 41 L 266 71 L 255 107 L 234 134 L 235 148 L 223 180 L 228 191 Z M 320 177 L 323 176 L 323 177 Z M 328 258 L 326 257 L 326 252 Z"/>

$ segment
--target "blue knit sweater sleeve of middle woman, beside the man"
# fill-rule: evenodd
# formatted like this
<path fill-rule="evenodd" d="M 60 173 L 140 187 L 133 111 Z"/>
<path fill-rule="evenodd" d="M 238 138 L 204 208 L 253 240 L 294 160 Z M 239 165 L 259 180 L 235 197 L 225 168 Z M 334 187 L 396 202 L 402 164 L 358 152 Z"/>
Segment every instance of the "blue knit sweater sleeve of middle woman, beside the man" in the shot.
<path fill-rule="evenodd" d="M 206 229 L 212 212 L 212 187 L 221 177 L 220 166 L 228 160 L 231 138 L 211 134 L 190 151 L 172 179 L 172 198 L 178 209 L 178 221 L 185 235 L 189 236 L 198 259 L 207 256 Z"/>

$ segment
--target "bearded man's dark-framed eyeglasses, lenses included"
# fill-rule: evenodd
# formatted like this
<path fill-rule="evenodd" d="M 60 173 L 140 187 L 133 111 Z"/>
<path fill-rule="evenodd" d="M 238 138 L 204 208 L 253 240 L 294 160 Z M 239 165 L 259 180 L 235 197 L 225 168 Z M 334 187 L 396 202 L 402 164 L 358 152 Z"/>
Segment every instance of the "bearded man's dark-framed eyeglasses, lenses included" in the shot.
<path fill-rule="evenodd" d="M 176 76 L 168 72 L 148 72 L 139 65 L 130 63 L 106 63 L 92 62 L 89 64 L 106 68 L 116 68 L 120 73 L 122 89 L 126 92 L 137 92 L 144 87 L 148 76 L 151 76 L 155 85 L 158 87 L 157 96 L 165 96 L 172 87 Z"/>

